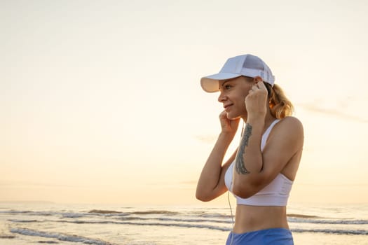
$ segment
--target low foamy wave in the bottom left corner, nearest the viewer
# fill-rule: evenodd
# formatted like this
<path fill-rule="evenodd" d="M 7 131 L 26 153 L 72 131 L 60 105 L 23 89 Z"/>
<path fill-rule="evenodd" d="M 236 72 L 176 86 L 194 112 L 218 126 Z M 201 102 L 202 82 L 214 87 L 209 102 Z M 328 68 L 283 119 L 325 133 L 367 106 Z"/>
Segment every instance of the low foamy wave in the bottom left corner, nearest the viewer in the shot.
<path fill-rule="evenodd" d="M 93 245 L 113 245 L 107 241 L 102 241 L 100 239 L 91 239 L 88 237 L 67 235 L 57 232 L 43 232 L 40 230 L 31 230 L 27 228 L 12 228 L 11 232 L 26 236 L 53 238 L 59 241 L 81 242 L 83 244 L 93 244 Z"/>

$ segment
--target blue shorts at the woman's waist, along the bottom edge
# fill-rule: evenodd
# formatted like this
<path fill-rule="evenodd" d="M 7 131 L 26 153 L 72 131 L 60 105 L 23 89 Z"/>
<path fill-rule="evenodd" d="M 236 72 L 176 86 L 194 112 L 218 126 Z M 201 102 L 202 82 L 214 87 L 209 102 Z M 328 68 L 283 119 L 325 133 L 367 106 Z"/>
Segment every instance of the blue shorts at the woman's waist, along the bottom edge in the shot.
<path fill-rule="evenodd" d="M 231 240 L 233 242 L 231 243 Z M 292 232 L 285 228 L 272 228 L 256 230 L 254 232 L 233 233 L 230 232 L 226 245 L 294 245 Z"/>

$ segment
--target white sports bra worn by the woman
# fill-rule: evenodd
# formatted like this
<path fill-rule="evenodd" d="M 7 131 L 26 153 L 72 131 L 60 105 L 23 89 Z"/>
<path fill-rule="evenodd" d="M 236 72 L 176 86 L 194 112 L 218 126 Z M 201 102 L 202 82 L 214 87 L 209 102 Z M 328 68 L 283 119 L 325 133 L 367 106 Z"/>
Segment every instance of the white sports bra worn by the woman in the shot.
<path fill-rule="evenodd" d="M 275 124 L 279 121 L 279 119 L 274 120 L 270 127 L 268 127 L 266 132 L 264 132 L 262 135 L 261 151 L 264 150 L 268 135 L 270 134 L 273 126 L 275 126 Z M 233 183 L 234 163 L 235 160 L 231 163 L 230 167 L 225 173 L 225 184 L 229 191 L 231 191 Z M 290 190 L 292 190 L 292 183 L 293 181 L 290 181 L 285 175 L 279 173 L 275 179 L 268 184 L 268 186 L 260 190 L 258 193 L 252 195 L 252 197 L 241 198 L 234 195 L 236 197 L 236 203 L 251 206 L 286 206 L 287 200 L 289 199 Z"/>

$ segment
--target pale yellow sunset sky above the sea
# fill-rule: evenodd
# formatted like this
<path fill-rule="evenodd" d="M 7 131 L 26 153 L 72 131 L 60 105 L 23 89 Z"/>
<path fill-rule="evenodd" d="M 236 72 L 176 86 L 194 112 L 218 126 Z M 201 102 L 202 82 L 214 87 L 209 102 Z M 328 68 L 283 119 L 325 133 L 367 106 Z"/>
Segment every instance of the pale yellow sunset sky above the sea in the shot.
<path fill-rule="evenodd" d="M 0 202 L 200 205 L 222 104 L 199 80 L 252 53 L 304 125 L 289 203 L 367 203 L 367 13 L 363 0 L 0 1 Z"/>

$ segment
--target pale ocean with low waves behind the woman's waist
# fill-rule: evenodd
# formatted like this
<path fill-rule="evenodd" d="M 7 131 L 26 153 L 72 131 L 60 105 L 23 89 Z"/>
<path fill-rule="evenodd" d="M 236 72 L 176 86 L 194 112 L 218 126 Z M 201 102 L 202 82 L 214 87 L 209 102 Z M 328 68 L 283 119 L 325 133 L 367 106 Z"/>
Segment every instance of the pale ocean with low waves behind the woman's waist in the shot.
<path fill-rule="evenodd" d="M 289 204 L 294 244 L 368 244 L 368 204 Z M 229 207 L 0 202 L 0 245 L 225 244 Z"/>

